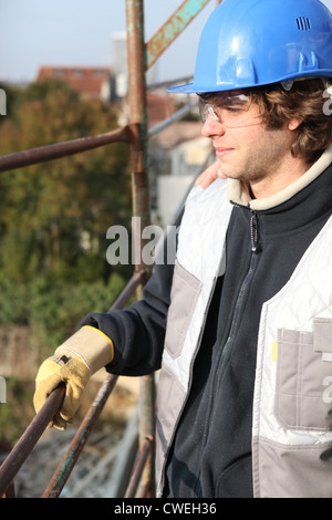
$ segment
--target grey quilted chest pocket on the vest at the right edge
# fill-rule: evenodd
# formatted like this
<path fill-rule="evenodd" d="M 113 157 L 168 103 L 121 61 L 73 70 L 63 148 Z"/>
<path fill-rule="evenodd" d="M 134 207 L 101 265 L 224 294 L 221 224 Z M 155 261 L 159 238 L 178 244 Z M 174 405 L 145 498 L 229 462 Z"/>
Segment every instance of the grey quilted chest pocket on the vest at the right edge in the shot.
<path fill-rule="evenodd" d="M 278 331 L 276 416 L 295 430 L 332 426 L 332 320 L 315 319 L 313 333 Z"/>

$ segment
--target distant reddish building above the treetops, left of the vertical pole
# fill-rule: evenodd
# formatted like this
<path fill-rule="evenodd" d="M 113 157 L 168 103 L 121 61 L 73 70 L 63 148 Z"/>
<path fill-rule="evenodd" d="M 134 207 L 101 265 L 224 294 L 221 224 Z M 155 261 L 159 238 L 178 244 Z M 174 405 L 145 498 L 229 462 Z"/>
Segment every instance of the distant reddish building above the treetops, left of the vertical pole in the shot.
<path fill-rule="evenodd" d="M 37 81 L 49 77 L 62 80 L 82 96 L 108 101 L 111 96 L 111 70 L 102 66 L 42 66 Z"/>

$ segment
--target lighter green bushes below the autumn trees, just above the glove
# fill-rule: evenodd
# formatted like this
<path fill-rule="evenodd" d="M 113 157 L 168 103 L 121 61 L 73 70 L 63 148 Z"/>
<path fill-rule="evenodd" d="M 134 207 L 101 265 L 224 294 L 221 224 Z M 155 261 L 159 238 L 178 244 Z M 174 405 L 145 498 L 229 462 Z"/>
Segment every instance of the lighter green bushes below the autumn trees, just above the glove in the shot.
<path fill-rule="evenodd" d="M 41 358 L 72 335 L 89 312 L 106 312 L 124 289 L 117 273 L 103 280 L 62 283 L 37 277 L 28 283 L 0 280 L 0 325 L 17 323 L 32 331 L 31 347 Z"/>

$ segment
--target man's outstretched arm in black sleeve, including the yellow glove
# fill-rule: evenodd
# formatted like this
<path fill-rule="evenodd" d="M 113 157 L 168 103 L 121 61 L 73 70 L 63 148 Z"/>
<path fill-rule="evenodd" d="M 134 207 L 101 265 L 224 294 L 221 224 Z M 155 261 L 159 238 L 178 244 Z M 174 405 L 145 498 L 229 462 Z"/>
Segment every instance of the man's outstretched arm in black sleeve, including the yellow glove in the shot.
<path fill-rule="evenodd" d="M 91 313 L 82 321 L 80 330 L 41 365 L 33 398 L 37 412 L 64 382 L 64 402 L 52 423 L 64 429 L 97 370 L 106 366 L 114 374 L 145 375 L 160 367 L 173 271 L 174 264 L 166 260 L 156 264 L 142 301 L 126 310 Z"/>

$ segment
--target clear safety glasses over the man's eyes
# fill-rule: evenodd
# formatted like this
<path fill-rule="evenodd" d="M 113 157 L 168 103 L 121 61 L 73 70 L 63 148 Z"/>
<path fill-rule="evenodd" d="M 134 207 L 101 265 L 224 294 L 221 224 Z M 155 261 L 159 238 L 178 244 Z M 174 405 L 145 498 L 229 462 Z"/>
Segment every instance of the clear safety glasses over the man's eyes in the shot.
<path fill-rule="evenodd" d="M 214 102 L 209 103 L 209 98 L 205 100 L 199 97 L 199 114 L 203 123 L 211 116 L 218 123 L 221 123 L 228 128 L 236 128 L 239 126 L 250 126 L 257 124 L 257 118 L 262 115 L 257 107 L 256 112 L 249 112 L 250 103 L 249 97 L 243 94 L 231 95 L 227 97 L 212 96 Z"/>

